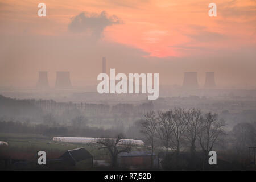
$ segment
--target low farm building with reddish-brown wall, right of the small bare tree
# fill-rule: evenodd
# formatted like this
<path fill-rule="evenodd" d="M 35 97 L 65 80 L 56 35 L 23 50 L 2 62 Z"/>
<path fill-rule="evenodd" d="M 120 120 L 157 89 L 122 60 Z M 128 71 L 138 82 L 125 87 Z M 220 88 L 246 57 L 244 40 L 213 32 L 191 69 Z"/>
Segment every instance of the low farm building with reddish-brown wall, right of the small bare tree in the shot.
<path fill-rule="evenodd" d="M 156 155 L 153 154 L 153 160 L 156 159 Z M 131 151 L 121 152 L 118 155 L 119 166 L 129 167 L 143 167 L 147 168 L 151 166 L 151 152 L 148 151 Z"/>

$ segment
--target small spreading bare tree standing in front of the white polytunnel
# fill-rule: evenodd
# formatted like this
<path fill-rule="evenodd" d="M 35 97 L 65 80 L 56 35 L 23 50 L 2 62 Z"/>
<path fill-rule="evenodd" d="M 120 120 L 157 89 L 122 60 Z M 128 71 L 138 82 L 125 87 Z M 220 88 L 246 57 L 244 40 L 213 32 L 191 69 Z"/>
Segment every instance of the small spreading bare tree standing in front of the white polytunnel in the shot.
<path fill-rule="evenodd" d="M 101 138 L 97 143 L 102 144 L 104 147 L 98 148 L 106 149 L 109 153 L 112 167 L 117 167 L 118 155 L 121 152 L 130 152 L 131 144 L 122 142 L 123 135 L 119 134 L 117 138 Z"/>

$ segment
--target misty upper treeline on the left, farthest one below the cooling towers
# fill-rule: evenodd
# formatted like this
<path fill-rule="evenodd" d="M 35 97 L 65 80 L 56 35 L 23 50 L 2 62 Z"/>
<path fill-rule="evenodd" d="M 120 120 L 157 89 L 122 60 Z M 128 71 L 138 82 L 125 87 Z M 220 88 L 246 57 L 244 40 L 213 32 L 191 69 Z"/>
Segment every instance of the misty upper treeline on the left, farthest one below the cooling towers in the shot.
<path fill-rule="evenodd" d="M 67 111 L 77 110 L 89 115 L 106 115 L 130 113 L 141 115 L 154 109 L 152 102 L 143 102 L 138 105 L 119 103 L 117 105 L 56 102 L 53 100 L 16 99 L 0 95 L 0 115 L 13 117 L 39 118 L 44 112 L 63 114 Z M 124 115 L 123 115 L 124 116 Z"/>

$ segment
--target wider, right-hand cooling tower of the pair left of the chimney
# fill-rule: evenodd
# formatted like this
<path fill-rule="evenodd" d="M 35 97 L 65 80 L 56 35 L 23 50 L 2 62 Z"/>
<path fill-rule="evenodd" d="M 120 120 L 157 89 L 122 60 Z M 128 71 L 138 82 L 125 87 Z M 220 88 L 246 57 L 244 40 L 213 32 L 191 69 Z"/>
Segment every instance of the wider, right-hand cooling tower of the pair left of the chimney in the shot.
<path fill-rule="evenodd" d="M 67 89 L 71 87 L 69 72 L 56 72 L 55 88 Z"/>

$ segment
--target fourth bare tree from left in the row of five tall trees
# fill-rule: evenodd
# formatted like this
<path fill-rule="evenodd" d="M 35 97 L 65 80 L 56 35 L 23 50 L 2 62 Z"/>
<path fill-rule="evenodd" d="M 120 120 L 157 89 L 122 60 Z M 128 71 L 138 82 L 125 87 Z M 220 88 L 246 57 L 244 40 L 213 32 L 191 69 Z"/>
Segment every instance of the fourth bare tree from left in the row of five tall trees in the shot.
<path fill-rule="evenodd" d="M 187 131 L 185 137 L 191 143 L 190 152 L 191 155 L 194 155 L 196 151 L 196 137 L 201 131 L 201 121 L 203 120 L 203 116 L 199 109 L 193 108 L 186 111 L 185 117 L 187 119 Z"/>

